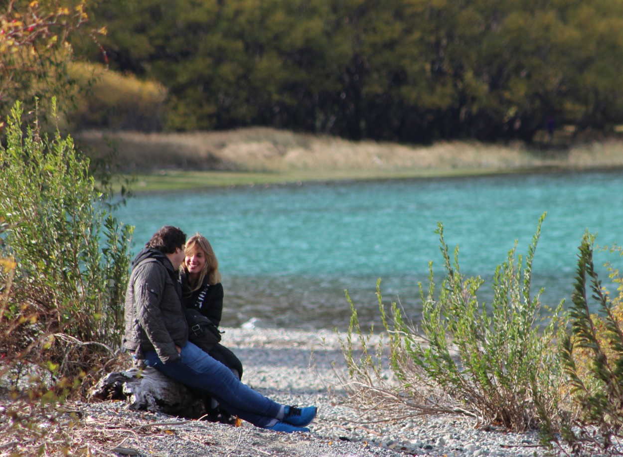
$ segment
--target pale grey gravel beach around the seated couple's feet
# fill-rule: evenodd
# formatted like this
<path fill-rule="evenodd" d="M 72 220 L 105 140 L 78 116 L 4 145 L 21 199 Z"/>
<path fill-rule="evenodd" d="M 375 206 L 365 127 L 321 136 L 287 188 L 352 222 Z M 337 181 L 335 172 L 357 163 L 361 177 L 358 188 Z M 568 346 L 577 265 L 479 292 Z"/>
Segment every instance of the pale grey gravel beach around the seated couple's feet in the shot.
<path fill-rule="evenodd" d="M 137 456 L 544 456 L 536 433 L 475 430 L 460 416 L 375 422 L 341 403 L 333 368 L 344 361 L 335 332 L 226 328 L 223 344 L 244 364 L 244 382 L 290 405 L 317 405 L 312 433 L 277 433 L 133 412 L 125 402 L 70 403 L 85 455 Z M 378 419 L 378 418 L 377 418 Z M 6 418 L 1 422 L 6 422 Z M 69 419 L 68 419 L 69 420 Z M 21 443 L 3 443 L 0 456 Z M 24 454 L 22 454 L 24 455 Z"/>

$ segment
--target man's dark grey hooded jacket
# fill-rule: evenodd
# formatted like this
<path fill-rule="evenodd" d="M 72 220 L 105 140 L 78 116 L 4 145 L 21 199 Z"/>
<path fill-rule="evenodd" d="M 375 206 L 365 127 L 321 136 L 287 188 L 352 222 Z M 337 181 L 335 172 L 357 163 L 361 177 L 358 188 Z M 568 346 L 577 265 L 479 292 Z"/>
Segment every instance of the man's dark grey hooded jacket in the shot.
<path fill-rule="evenodd" d="M 178 273 L 171 261 L 156 249 L 145 248 L 132 261 L 125 294 L 123 347 L 156 350 L 163 363 L 178 360 L 178 349 L 188 341 L 188 324 L 181 304 Z"/>

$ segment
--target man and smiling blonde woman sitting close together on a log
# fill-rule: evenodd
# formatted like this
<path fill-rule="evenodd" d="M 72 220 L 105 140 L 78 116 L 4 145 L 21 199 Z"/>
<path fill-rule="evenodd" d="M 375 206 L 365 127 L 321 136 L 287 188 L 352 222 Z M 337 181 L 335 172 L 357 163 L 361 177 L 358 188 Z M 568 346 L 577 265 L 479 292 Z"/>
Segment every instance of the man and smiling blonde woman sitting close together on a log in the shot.
<path fill-rule="evenodd" d="M 218 262 L 207 239 L 197 233 L 187 243 L 177 227 L 162 227 L 132 262 L 123 348 L 255 426 L 310 431 L 316 407 L 281 405 L 264 397 L 240 381 L 242 364 L 232 351 L 217 343 L 201 349 L 189 341 L 185 308 L 197 309 L 218 326 L 222 300 Z"/>

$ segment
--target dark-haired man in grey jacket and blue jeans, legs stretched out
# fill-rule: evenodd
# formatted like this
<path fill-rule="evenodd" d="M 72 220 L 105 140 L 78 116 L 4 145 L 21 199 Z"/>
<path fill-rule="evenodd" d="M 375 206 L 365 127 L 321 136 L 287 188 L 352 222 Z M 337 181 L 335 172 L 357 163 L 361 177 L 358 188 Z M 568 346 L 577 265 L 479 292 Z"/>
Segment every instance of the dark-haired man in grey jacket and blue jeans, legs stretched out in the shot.
<path fill-rule="evenodd" d="M 275 431 L 309 431 L 316 407 L 273 402 L 250 389 L 231 370 L 188 341 L 178 268 L 186 234 L 166 225 L 132 262 L 125 298 L 123 347 L 171 379 L 211 395 L 221 406 L 255 426 Z"/>

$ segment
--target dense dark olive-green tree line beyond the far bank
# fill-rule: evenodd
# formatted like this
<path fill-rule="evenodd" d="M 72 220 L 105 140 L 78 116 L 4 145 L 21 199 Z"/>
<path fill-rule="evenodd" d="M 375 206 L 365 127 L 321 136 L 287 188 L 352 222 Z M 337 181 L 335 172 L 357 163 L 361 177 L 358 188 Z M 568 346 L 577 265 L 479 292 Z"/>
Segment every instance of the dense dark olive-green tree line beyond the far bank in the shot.
<path fill-rule="evenodd" d="M 616 0 L 123 0 L 90 17 L 108 31 L 90 59 L 168 88 L 171 130 L 531 141 L 548 120 L 623 120 Z"/>

